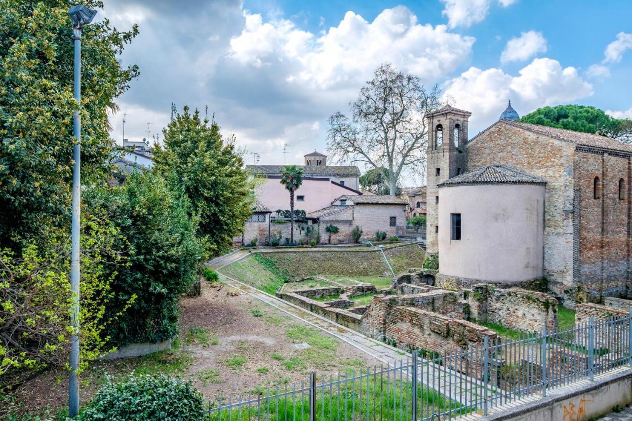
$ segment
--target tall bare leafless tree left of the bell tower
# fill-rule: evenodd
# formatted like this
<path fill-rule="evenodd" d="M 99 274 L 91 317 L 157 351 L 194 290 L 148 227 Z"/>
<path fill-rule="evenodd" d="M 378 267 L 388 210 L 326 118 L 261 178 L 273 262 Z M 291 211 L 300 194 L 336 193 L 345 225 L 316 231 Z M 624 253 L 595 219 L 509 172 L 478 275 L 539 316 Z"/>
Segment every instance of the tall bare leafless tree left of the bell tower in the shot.
<path fill-rule="evenodd" d="M 437 86 L 426 90 L 418 77 L 382 64 L 349 102 L 351 118 L 340 111 L 329 118 L 327 149 L 338 161 L 371 166 L 396 195 L 402 171 L 425 165 L 425 113 L 439 108 L 440 94 Z"/>

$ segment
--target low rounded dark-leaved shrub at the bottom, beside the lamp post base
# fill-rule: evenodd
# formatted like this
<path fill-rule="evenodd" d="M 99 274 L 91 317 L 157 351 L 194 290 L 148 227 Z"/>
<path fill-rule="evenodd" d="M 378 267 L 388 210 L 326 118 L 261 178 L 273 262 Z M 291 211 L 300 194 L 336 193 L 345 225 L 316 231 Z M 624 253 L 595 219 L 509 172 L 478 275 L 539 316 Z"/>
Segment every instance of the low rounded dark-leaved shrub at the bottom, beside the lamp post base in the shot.
<path fill-rule="evenodd" d="M 114 383 L 97 392 L 80 420 L 200 420 L 202 394 L 190 382 L 164 374 L 140 375 Z"/>

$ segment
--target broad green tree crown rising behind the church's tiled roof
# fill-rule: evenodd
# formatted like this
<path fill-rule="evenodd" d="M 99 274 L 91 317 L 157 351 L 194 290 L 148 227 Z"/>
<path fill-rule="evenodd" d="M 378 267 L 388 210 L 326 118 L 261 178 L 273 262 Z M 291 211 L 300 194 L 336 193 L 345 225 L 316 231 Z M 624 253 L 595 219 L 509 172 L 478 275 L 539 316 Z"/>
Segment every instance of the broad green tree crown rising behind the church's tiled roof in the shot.
<path fill-rule="evenodd" d="M 623 142 L 632 142 L 632 120 L 612 118 L 595 107 L 580 105 L 542 107 L 523 116 L 520 121 L 585 133 L 599 133 L 623 140 Z"/>

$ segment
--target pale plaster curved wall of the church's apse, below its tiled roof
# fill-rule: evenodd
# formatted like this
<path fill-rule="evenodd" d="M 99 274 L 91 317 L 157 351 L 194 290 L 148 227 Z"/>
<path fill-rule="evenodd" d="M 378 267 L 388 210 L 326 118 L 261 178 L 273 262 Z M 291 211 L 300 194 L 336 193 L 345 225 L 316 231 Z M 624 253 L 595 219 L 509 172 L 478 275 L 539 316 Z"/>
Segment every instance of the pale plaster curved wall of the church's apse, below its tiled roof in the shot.
<path fill-rule="evenodd" d="M 450 214 L 461 214 L 451 240 Z M 439 272 L 482 281 L 542 276 L 544 186 L 464 185 L 439 188 Z"/>

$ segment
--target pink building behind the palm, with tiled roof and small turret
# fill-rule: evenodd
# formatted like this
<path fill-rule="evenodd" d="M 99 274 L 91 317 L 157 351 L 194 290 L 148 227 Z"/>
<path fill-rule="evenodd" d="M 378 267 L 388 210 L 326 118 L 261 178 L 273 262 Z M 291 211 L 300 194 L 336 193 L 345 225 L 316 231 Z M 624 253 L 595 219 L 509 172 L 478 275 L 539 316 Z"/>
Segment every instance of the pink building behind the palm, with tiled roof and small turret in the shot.
<path fill-rule="evenodd" d="M 283 165 L 248 165 L 246 170 L 266 180 L 257 188 L 257 199 L 267 209 L 289 209 L 289 192 L 281 184 Z M 331 205 L 342 195 L 362 195 L 358 188 L 360 170 L 355 166 L 328 166 L 327 156 L 305 155 L 303 184 L 295 192 L 294 209 L 313 212 Z"/>

